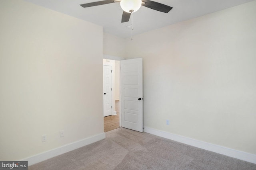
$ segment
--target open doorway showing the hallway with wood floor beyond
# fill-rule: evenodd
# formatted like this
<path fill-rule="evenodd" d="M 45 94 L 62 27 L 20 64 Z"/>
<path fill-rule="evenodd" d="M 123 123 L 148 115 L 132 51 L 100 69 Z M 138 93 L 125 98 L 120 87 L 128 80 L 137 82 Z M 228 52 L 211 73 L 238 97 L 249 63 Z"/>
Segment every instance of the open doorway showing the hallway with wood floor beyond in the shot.
<path fill-rule="evenodd" d="M 120 61 L 103 59 L 104 132 L 120 125 Z"/>

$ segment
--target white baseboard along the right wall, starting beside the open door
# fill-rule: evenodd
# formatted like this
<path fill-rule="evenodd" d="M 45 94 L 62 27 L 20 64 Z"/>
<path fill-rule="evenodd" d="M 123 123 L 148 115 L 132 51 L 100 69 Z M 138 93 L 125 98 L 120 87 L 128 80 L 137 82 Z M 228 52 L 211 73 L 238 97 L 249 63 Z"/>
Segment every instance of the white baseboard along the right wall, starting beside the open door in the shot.
<path fill-rule="evenodd" d="M 256 164 L 256 155 L 144 127 L 144 132 Z"/>

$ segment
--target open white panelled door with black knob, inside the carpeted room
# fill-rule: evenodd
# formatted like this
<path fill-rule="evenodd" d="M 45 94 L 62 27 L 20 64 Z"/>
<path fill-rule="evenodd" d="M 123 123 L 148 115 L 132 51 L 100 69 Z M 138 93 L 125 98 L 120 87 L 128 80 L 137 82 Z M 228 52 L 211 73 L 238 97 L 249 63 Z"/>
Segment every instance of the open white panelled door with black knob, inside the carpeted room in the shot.
<path fill-rule="evenodd" d="M 122 127 L 143 132 L 142 58 L 121 61 Z"/>

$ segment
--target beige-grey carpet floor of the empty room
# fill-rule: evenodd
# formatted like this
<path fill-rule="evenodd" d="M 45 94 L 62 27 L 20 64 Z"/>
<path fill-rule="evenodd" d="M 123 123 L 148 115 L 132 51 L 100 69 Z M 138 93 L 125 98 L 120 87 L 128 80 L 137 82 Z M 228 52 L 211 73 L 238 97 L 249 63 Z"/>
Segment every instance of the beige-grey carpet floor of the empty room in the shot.
<path fill-rule="evenodd" d="M 169 139 L 118 128 L 106 139 L 28 170 L 256 170 L 256 164 Z"/>

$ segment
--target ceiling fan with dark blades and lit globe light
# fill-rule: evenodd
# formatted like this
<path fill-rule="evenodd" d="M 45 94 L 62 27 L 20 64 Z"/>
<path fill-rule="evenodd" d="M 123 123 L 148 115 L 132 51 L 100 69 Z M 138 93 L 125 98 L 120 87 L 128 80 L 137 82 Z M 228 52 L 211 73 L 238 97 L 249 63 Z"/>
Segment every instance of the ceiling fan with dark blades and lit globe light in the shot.
<path fill-rule="evenodd" d="M 128 22 L 130 20 L 130 16 L 133 12 L 136 12 L 140 9 L 140 6 L 145 6 L 152 10 L 157 10 L 160 12 L 168 13 L 172 10 L 172 7 L 160 4 L 158 2 L 154 2 L 151 0 L 103 0 L 98 2 L 91 2 L 87 4 L 80 4 L 80 6 L 87 8 L 91 6 L 105 5 L 110 3 L 120 2 L 121 8 L 124 10 L 122 15 L 122 23 Z"/>

